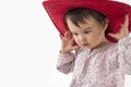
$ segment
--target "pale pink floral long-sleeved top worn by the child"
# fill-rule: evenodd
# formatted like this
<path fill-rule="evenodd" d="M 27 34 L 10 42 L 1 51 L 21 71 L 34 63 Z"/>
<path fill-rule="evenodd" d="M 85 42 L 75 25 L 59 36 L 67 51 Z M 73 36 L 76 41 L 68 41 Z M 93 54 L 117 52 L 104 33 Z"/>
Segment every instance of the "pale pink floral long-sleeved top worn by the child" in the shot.
<path fill-rule="evenodd" d="M 57 69 L 73 73 L 70 87 L 123 87 L 124 74 L 131 74 L 131 37 L 91 51 L 59 53 Z"/>

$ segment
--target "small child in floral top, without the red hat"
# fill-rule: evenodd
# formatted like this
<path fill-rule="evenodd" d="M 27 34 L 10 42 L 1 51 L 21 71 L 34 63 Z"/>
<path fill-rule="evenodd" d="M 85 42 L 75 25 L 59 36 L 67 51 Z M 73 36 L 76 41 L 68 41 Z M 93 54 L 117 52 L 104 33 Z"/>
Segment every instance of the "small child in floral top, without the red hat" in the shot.
<path fill-rule="evenodd" d="M 70 87 L 123 87 L 124 74 L 131 74 L 129 14 L 118 33 L 108 33 L 117 42 L 106 37 L 110 22 L 96 10 L 71 8 L 63 21 L 69 30 L 60 35 L 57 69 L 73 73 Z"/>

